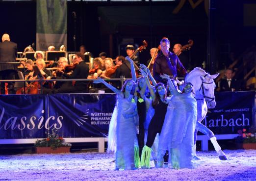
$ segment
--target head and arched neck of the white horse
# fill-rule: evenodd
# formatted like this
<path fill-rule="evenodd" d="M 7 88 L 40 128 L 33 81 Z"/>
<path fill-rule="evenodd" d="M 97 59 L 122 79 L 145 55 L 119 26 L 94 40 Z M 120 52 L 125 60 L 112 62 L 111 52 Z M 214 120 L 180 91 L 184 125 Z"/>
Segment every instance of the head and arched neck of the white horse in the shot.
<path fill-rule="evenodd" d="M 216 105 L 214 89 L 214 79 L 219 74 L 209 75 L 202 68 L 196 67 L 185 78 L 185 82 L 191 82 L 194 86 L 195 98 L 205 100 L 208 108 L 214 108 Z"/>

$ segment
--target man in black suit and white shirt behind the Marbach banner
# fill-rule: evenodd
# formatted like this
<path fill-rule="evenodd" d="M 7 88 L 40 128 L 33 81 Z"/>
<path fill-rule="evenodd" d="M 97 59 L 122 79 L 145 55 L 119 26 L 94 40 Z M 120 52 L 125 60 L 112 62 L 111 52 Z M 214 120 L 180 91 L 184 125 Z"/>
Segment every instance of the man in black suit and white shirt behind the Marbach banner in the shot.
<path fill-rule="evenodd" d="M 220 91 L 225 92 L 225 91 L 239 91 L 240 88 L 240 83 L 236 79 L 232 79 L 232 69 L 227 69 L 225 70 L 225 79 L 222 79 L 220 81 Z"/>

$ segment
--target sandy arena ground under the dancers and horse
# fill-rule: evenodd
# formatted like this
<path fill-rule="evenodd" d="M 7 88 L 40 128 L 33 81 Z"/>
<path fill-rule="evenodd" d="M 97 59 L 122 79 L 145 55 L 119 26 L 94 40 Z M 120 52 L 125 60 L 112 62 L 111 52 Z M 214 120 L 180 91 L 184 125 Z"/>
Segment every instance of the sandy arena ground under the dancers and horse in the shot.
<path fill-rule="evenodd" d="M 256 181 L 256 150 L 224 150 L 228 160 L 216 153 L 197 152 L 194 169 L 114 171 L 114 154 L 22 154 L 0 156 L 0 180 L 87 181 Z"/>

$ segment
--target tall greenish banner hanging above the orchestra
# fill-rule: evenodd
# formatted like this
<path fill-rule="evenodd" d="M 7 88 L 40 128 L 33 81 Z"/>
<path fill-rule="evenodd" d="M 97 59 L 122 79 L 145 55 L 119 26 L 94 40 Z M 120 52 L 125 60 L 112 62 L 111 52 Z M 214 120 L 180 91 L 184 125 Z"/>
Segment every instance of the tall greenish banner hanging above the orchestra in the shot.
<path fill-rule="evenodd" d="M 36 1 L 36 49 L 45 51 L 51 45 L 67 49 L 67 1 Z"/>

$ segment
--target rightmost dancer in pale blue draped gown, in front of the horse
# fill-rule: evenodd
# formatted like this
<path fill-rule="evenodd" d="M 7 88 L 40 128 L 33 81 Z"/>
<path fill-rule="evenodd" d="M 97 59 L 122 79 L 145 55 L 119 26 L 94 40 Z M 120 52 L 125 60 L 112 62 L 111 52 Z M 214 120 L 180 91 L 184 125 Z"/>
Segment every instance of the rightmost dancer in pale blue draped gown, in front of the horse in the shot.
<path fill-rule="evenodd" d="M 180 94 L 168 75 L 161 77 L 168 80 L 169 90 L 173 96 L 159 137 L 158 161 L 162 161 L 165 151 L 168 150 L 172 168 L 193 168 L 193 144 L 197 120 L 197 103 L 191 95 L 193 85 L 189 82 L 185 83 L 183 93 Z"/>

